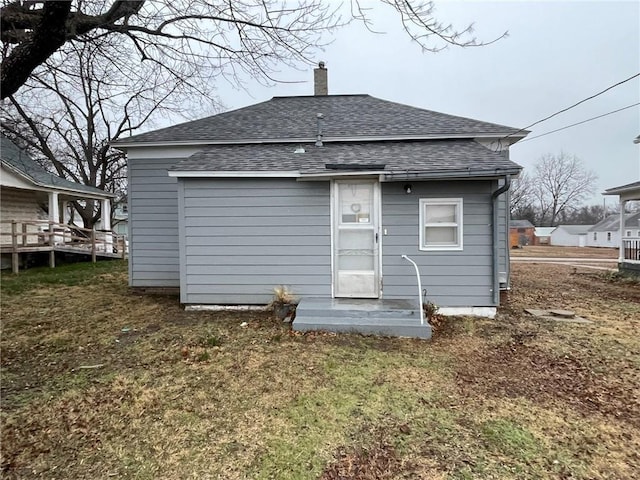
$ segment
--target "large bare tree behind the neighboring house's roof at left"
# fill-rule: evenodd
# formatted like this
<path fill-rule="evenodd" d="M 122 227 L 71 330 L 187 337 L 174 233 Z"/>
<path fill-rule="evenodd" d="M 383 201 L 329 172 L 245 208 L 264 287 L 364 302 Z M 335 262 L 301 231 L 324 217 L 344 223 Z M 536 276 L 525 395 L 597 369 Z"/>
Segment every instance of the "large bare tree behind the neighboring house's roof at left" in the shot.
<path fill-rule="evenodd" d="M 184 82 L 167 82 L 154 64 L 132 65 L 121 43 L 103 38 L 65 45 L 64 61 L 57 62 L 57 54 L 48 59 L 18 95 L 0 104 L 0 116 L 3 133 L 46 168 L 124 195 L 124 154 L 109 142 L 179 109 Z M 87 228 L 100 218 L 99 202 L 74 207 Z"/>

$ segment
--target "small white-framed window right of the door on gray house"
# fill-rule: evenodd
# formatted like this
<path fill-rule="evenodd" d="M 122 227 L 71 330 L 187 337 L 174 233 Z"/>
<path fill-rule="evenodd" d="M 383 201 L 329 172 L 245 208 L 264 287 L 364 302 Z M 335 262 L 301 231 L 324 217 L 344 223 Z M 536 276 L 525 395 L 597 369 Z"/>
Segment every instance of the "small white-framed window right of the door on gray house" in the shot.
<path fill-rule="evenodd" d="M 420 250 L 462 250 L 462 199 L 420 199 Z"/>

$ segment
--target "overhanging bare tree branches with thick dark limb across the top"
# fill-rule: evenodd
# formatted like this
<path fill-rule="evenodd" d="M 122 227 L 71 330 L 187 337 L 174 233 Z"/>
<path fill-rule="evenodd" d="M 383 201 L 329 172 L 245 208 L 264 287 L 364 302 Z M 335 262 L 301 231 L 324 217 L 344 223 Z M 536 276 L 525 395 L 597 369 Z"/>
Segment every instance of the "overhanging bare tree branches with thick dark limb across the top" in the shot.
<path fill-rule="evenodd" d="M 425 50 L 486 44 L 476 40 L 472 26 L 458 31 L 438 22 L 431 1 L 381 3 L 395 8 L 405 31 Z M 243 70 L 272 80 L 283 63 L 310 63 L 334 28 L 352 19 L 369 27 L 361 1 L 350 5 L 343 20 L 330 0 L 3 0 L 0 92 L 2 98 L 15 94 L 64 45 L 114 36 L 126 39 L 127 51 L 139 61 L 155 63 L 194 88 L 212 72 L 237 79 Z"/>

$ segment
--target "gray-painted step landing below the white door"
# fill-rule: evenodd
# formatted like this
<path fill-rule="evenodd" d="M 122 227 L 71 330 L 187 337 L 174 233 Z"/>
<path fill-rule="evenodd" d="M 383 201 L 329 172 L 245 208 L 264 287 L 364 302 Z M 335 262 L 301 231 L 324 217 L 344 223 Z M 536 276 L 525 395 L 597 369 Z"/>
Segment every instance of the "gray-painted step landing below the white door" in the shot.
<path fill-rule="evenodd" d="M 431 326 L 420 324 L 417 300 L 409 299 L 303 298 L 293 329 L 431 338 Z"/>

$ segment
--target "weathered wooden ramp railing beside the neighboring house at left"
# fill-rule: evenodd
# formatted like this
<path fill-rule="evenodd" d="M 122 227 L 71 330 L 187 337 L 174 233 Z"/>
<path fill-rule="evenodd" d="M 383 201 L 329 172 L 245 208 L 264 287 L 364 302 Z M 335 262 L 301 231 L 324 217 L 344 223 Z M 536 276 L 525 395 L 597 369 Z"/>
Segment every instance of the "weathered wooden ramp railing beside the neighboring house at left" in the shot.
<path fill-rule="evenodd" d="M 124 235 L 61 223 L 33 220 L 0 221 L 2 253 L 11 253 L 11 265 L 18 272 L 20 253 L 49 252 L 49 265 L 55 267 L 55 252 L 126 258 Z"/>

